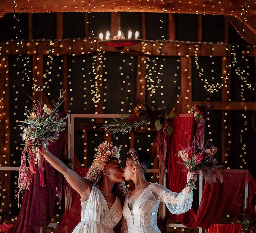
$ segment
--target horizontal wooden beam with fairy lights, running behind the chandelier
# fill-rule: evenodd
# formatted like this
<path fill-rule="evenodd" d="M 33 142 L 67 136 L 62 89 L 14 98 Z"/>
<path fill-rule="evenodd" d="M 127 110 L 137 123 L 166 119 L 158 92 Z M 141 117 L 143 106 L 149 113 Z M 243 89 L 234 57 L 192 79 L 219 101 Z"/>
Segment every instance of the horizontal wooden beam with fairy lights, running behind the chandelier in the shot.
<path fill-rule="evenodd" d="M 67 40 L 53 40 L 54 44 L 50 45 L 49 41 L 41 40 L 41 41 L 27 41 L 26 50 L 21 50 L 20 46 L 17 47 L 17 42 L 15 41 L 8 41 L 1 42 L 0 46 L 2 46 L 1 54 L 2 55 L 33 55 L 35 51 L 39 55 L 48 55 L 49 49 L 54 49 L 54 53 L 52 55 L 82 55 L 87 54 L 89 52 L 96 53 L 97 49 L 100 47 L 98 44 L 98 39 L 95 38 L 97 42 L 93 42 L 93 50 L 91 51 L 91 43 L 90 38 L 84 39 L 67 39 Z M 93 40 L 93 41 L 94 41 Z M 108 53 L 115 53 L 121 54 L 124 53 L 126 55 L 144 55 L 144 52 L 149 51 L 151 56 L 159 56 L 159 41 L 149 41 L 149 40 L 140 40 L 141 43 L 127 46 L 124 50 L 118 51 L 113 47 L 103 47 L 102 51 L 106 51 Z M 23 42 L 25 43 L 25 42 Z M 146 45 L 145 51 L 142 52 L 143 47 Z M 163 42 L 163 56 L 179 56 L 179 57 L 186 57 L 194 56 L 195 49 L 198 46 L 197 54 L 200 57 L 208 57 L 212 55 L 213 57 L 231 57 L 231 45 L 226 44 L 210 44 L 210 43 L 186 43 L 186 42 L 173 42 L 173 41 L 166 41 Z M 81 49 L 83 48 L 83 49 Z M 246 51 L 244 51 L 244 56 L 248 57 L 255 57 L 256 56 L 256 48 L 245 47 Z M 249 51 L 249 53 L 247 53 Z"/>

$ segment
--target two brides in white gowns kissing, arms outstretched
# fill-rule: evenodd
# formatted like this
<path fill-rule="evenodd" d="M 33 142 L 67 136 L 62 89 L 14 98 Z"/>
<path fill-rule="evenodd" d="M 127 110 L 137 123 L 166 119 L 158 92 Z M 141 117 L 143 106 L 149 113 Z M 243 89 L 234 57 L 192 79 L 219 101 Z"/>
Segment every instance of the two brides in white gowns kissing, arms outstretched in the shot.
<path fill-rule="evenodd" d="M 40 153 L 80 194 L 81 222 L 73 233 L 161 233 L 156 222 L 160 201 L 173 214 L 182 214 L 191 208 L 191 189 L 172 192 L 145 179 L 151 162 L 146 151 L 130 148 L 126 166 L 122 168 L 120 150 L 121 146 L 113 146 L 113 142 L 100 143 L 86 177 L 81 177 L 48 151 L 41 141 Z M 134 182 L 132 190 L 127 191 L 124 179 Z M 187 181 L 189 179 L 196 181 L 197 174 L 188 172 Z"/>

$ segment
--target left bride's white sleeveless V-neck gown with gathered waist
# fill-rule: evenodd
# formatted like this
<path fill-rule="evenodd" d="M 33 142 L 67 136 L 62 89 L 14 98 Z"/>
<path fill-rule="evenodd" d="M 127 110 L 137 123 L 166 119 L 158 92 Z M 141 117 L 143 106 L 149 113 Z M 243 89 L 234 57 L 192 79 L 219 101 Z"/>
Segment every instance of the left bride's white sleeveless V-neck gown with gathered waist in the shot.
<path fill-rule="evenodd" d="M 122 217 L 122 204 L 118 197 L 109 209 L 101 191 L 92 185 L 87 201 L 82 201 L 81 222 L 73 233 L 114 233 L 113 228 Z"/>

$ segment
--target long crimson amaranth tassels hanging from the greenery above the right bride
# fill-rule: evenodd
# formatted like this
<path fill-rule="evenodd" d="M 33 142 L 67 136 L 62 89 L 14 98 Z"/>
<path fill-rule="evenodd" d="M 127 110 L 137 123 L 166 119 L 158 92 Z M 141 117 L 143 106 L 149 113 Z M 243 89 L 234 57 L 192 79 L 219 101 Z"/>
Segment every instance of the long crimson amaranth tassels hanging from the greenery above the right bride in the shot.
<path fill-rule="evenodd" d="M 163 123 L 156 136 L 156 153 L 158 156 L 159 172 L 165 175 L 167 148 L 169 147 L 169 135 L 167 133 L 167 125 Z"/>

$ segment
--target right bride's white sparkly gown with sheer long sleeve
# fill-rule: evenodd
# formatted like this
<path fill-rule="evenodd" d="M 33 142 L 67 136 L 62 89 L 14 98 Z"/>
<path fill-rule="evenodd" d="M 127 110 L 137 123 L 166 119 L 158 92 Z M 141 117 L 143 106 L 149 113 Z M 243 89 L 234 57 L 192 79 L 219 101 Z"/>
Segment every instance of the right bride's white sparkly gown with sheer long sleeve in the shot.
<path fill-rule="evenodd" d="M 164 202 L 173 214 L 187 212 L 193 201 L 192 191 L 186 193 L 183 189 L 181 193 L 176 193 L 160 184 L 151 183 L 141 193 L 131 210 L 128 205 L 129 193 L 130 191 L 126 194 L 123 207 L 123 216 L 127 222 L 127 226 L 122 226 L 123 233 L 161 233 L 156 222 L 160 201 Z"/>

